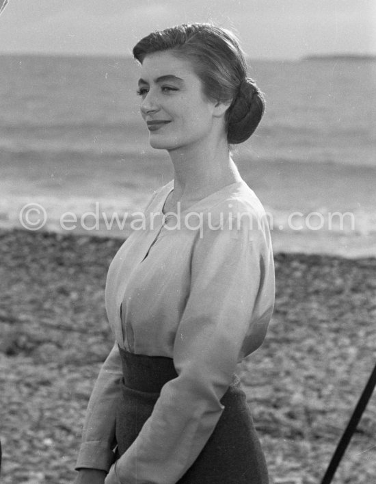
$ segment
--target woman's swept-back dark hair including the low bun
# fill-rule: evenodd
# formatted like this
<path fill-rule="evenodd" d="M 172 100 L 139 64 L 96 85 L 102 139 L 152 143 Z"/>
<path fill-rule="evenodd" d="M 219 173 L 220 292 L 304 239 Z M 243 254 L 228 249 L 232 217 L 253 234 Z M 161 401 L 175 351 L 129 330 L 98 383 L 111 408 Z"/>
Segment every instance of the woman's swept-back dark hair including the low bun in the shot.
<path fill-rule="evenodd" d="M 225 116 L 228 143 L 250 138 L 263 117 L 265 99 L 247 77 L 245 55 L 234 34 L 210 23 L 176 25 L 137 42 L 133 56 L 142 64 L 146 55 L 167 50 L 191 62 L 207 99 L 231 101 Z"/>

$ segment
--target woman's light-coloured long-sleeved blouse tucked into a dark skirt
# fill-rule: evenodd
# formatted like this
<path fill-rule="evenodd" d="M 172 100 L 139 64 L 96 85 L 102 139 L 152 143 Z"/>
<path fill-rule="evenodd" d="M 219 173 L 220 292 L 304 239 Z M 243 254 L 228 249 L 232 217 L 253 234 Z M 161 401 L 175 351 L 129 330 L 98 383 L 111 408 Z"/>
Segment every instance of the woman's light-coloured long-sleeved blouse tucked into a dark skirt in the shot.
<path fill-rule="evenodd" d="M 76 468 L 108 471 L 113 463 L 118 345 L 173 358 L 178 377 L 163 386 L 106 483 L 174 484 L 183 476 L 221 416 L 237 364 L 262 344 L 273 311 L 269 226 L 254 192 L 238 181 L 166 217 L 172 190 L 170 181 L 155 193 L 109 267 L 105 300 L 116 343 L 90 397 Z"/>

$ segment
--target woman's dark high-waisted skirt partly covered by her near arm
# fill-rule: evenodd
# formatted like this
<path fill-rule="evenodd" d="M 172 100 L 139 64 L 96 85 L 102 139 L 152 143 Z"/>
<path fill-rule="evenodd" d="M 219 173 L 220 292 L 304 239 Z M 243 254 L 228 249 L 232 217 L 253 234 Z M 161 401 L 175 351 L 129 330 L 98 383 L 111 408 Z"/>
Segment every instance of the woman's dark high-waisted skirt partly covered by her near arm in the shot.
<path fill-rule="evenodd" d="M 176 378 L 171 358 L 120 349 L 122 400 L 116 415 L 118 455 L 136 439 L 167 381 Z M 224 411 L 200 455 L 178 484 L 268 484 L 267 466 L 238 377 L 221 398 Z"/>

